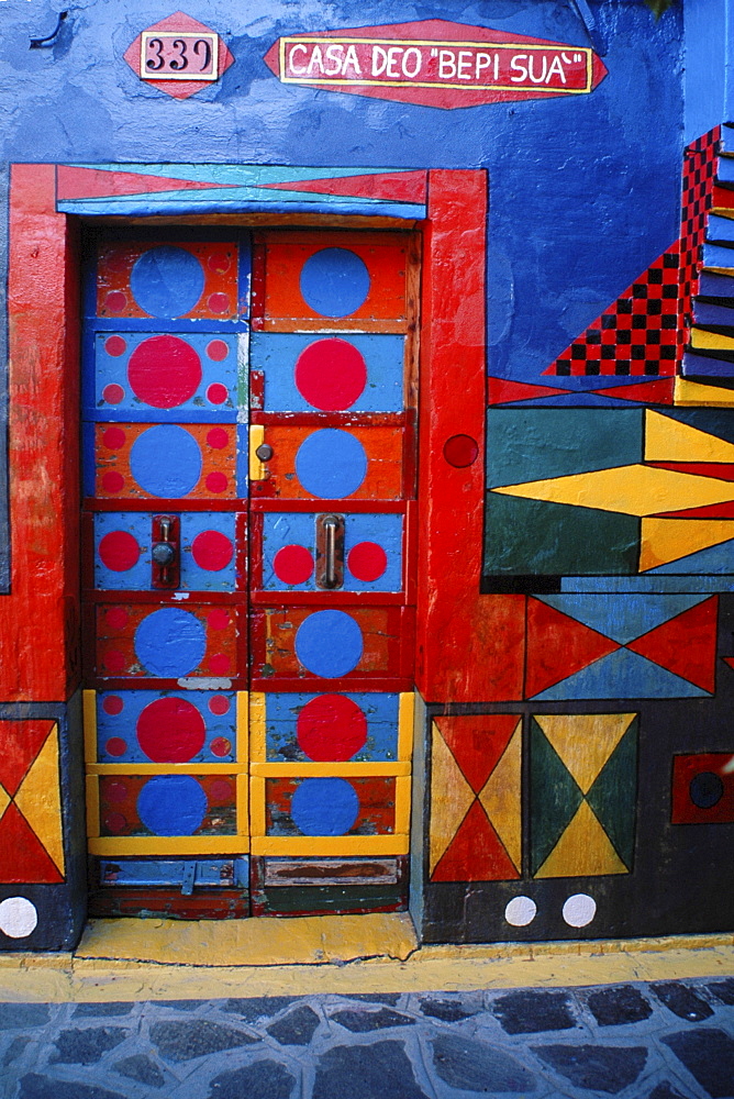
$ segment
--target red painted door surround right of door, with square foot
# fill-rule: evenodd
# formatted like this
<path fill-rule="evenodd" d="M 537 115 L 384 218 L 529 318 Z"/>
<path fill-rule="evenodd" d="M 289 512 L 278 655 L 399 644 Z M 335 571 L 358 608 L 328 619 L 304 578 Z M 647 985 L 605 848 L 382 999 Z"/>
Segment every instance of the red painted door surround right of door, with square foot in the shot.
<path fill-rule="evenodd" d="M 416 686 L 427 702 L 522 697 L 523 596 L 482 596 L 487 174 L 431 171 L 423 241 Z M 491 257 L 490 257 L 491 266 Z M 444 454 L 456 435 L 470 465 Z M 468 444 L 455 444 L 470 457 Z M 461 451 L 464 449 L 464 454 Z M 452 447 L 447 454 L 454 457 Z"/>

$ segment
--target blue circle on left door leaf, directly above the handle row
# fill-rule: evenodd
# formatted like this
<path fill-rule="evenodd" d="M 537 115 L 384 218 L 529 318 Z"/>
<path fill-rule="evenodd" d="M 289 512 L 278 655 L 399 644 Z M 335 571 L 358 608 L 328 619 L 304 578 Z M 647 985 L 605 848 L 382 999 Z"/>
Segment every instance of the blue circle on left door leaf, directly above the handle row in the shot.
<path fill-rule="evenodd" d="M 201 476 L 201 447 L 185 428 L 162 423 L 137 436 L 130 451 L 130 469 L 151 496 L 186 496 Z"/>

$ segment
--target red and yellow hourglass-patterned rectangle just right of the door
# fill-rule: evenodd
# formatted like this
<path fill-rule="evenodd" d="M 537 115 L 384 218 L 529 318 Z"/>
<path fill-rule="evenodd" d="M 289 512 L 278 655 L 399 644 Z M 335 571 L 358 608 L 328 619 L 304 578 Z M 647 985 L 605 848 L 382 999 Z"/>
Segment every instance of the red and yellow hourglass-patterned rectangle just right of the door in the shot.
<path fill-rule="evenodd" d="M 521 728 L 513 713 L 434 719 L 432 881 L 520 877 Z"/>

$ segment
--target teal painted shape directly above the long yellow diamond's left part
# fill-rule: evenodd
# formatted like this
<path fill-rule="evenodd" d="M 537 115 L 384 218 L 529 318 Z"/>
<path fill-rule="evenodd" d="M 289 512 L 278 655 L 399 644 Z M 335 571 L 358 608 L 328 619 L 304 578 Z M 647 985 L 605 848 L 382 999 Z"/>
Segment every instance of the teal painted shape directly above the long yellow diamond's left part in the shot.
<path fill-rule="evenodd" d="M 642 409 L 491 408 L 487 487 L 642 462 L 643 414 Z"/>

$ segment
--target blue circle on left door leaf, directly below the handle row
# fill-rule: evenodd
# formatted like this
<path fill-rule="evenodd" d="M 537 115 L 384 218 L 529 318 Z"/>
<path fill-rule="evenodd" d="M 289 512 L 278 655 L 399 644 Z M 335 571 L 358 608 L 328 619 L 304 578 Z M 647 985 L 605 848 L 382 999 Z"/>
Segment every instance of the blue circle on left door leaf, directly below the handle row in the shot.
<path fill-rule="evenodd" d="M 188 676 L 204 658 L 207 630 L 180 607 L 162 607 L 143 619 L 135 631 L 135 655 L 152 676 Z"/>

